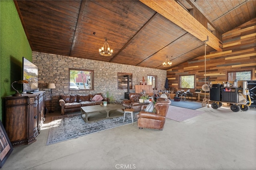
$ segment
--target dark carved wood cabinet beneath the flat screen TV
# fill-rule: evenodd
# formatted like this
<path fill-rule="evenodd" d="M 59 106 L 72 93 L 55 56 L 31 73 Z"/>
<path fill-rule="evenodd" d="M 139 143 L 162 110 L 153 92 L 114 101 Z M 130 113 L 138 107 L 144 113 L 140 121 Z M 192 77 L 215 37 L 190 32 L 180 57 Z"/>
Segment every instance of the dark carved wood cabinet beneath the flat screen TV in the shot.
<path fill-rule="evenodd" d="M 12 146 L 30 144 L 44 122 L 44 91 L 5 97 L 5 130 Z"/>

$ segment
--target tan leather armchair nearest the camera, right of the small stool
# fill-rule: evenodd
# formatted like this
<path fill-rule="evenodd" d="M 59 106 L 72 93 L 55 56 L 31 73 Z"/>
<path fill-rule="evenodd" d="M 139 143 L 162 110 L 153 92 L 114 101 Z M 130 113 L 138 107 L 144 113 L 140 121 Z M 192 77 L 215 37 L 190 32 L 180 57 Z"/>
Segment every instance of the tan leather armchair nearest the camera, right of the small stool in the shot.
<path fill-rule="evenodd" d="M 140 111 L 138 117 L 138 128 L 155 128 L 163 130 L 165 117 L 168 112 L 171 101 L 165 98 L 158 98 L 156 100 L 156 113 Z"/>

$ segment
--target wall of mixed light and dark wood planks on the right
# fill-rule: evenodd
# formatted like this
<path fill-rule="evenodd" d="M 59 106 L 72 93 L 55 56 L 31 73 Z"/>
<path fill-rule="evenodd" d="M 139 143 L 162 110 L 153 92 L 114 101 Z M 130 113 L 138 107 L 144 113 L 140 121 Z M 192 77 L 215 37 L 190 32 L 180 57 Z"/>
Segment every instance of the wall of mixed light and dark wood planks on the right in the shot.
<path fill-rule="evenodd" d="M 206 81 L 222 82 L 228 80 L 230 71 L 251 70 L 252 79 L 255 80 L 256 18 L 224 33 L 222 42 L 223 51 L 206 54 L 206 64 L 203 55 L 167 70 L 169 87 L 180 89 L 180 75 L 195 75 L 196 89 L 201 89 L 204 84 L 205 72 Z"/>

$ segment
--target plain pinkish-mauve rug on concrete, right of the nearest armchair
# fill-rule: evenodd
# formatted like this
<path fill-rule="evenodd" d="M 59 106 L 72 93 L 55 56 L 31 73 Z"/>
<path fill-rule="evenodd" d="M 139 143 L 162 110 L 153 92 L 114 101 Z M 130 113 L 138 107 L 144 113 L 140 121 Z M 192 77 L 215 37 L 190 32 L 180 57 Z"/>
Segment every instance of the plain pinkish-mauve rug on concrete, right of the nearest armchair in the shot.
<path fill-rule="evenodd" d="M 182 122 L 187 119 L 191 119 L 192 117 L 201 115 L 203 113 L 205 113 L 205 112 L 196 111 L 193 109 L 186 109 L 186 108 L 182 108 L 182 107 L 169 106 L 166 118 L 172 119 L 177 122 Z"/>

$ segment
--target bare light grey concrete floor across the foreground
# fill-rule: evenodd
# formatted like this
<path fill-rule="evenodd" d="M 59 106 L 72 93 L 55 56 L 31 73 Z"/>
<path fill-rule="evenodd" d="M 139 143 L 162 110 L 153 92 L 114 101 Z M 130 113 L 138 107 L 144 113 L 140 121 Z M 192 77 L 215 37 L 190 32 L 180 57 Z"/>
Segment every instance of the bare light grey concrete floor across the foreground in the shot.
<path fill-rule="evenodd" d="M 204 114 L 164 130 L 124 125 L 46 146 L 50 113 L 37 141 L 14 148 L 2 170 L 255 170 L 256 109 L 197 109 Z"/>

